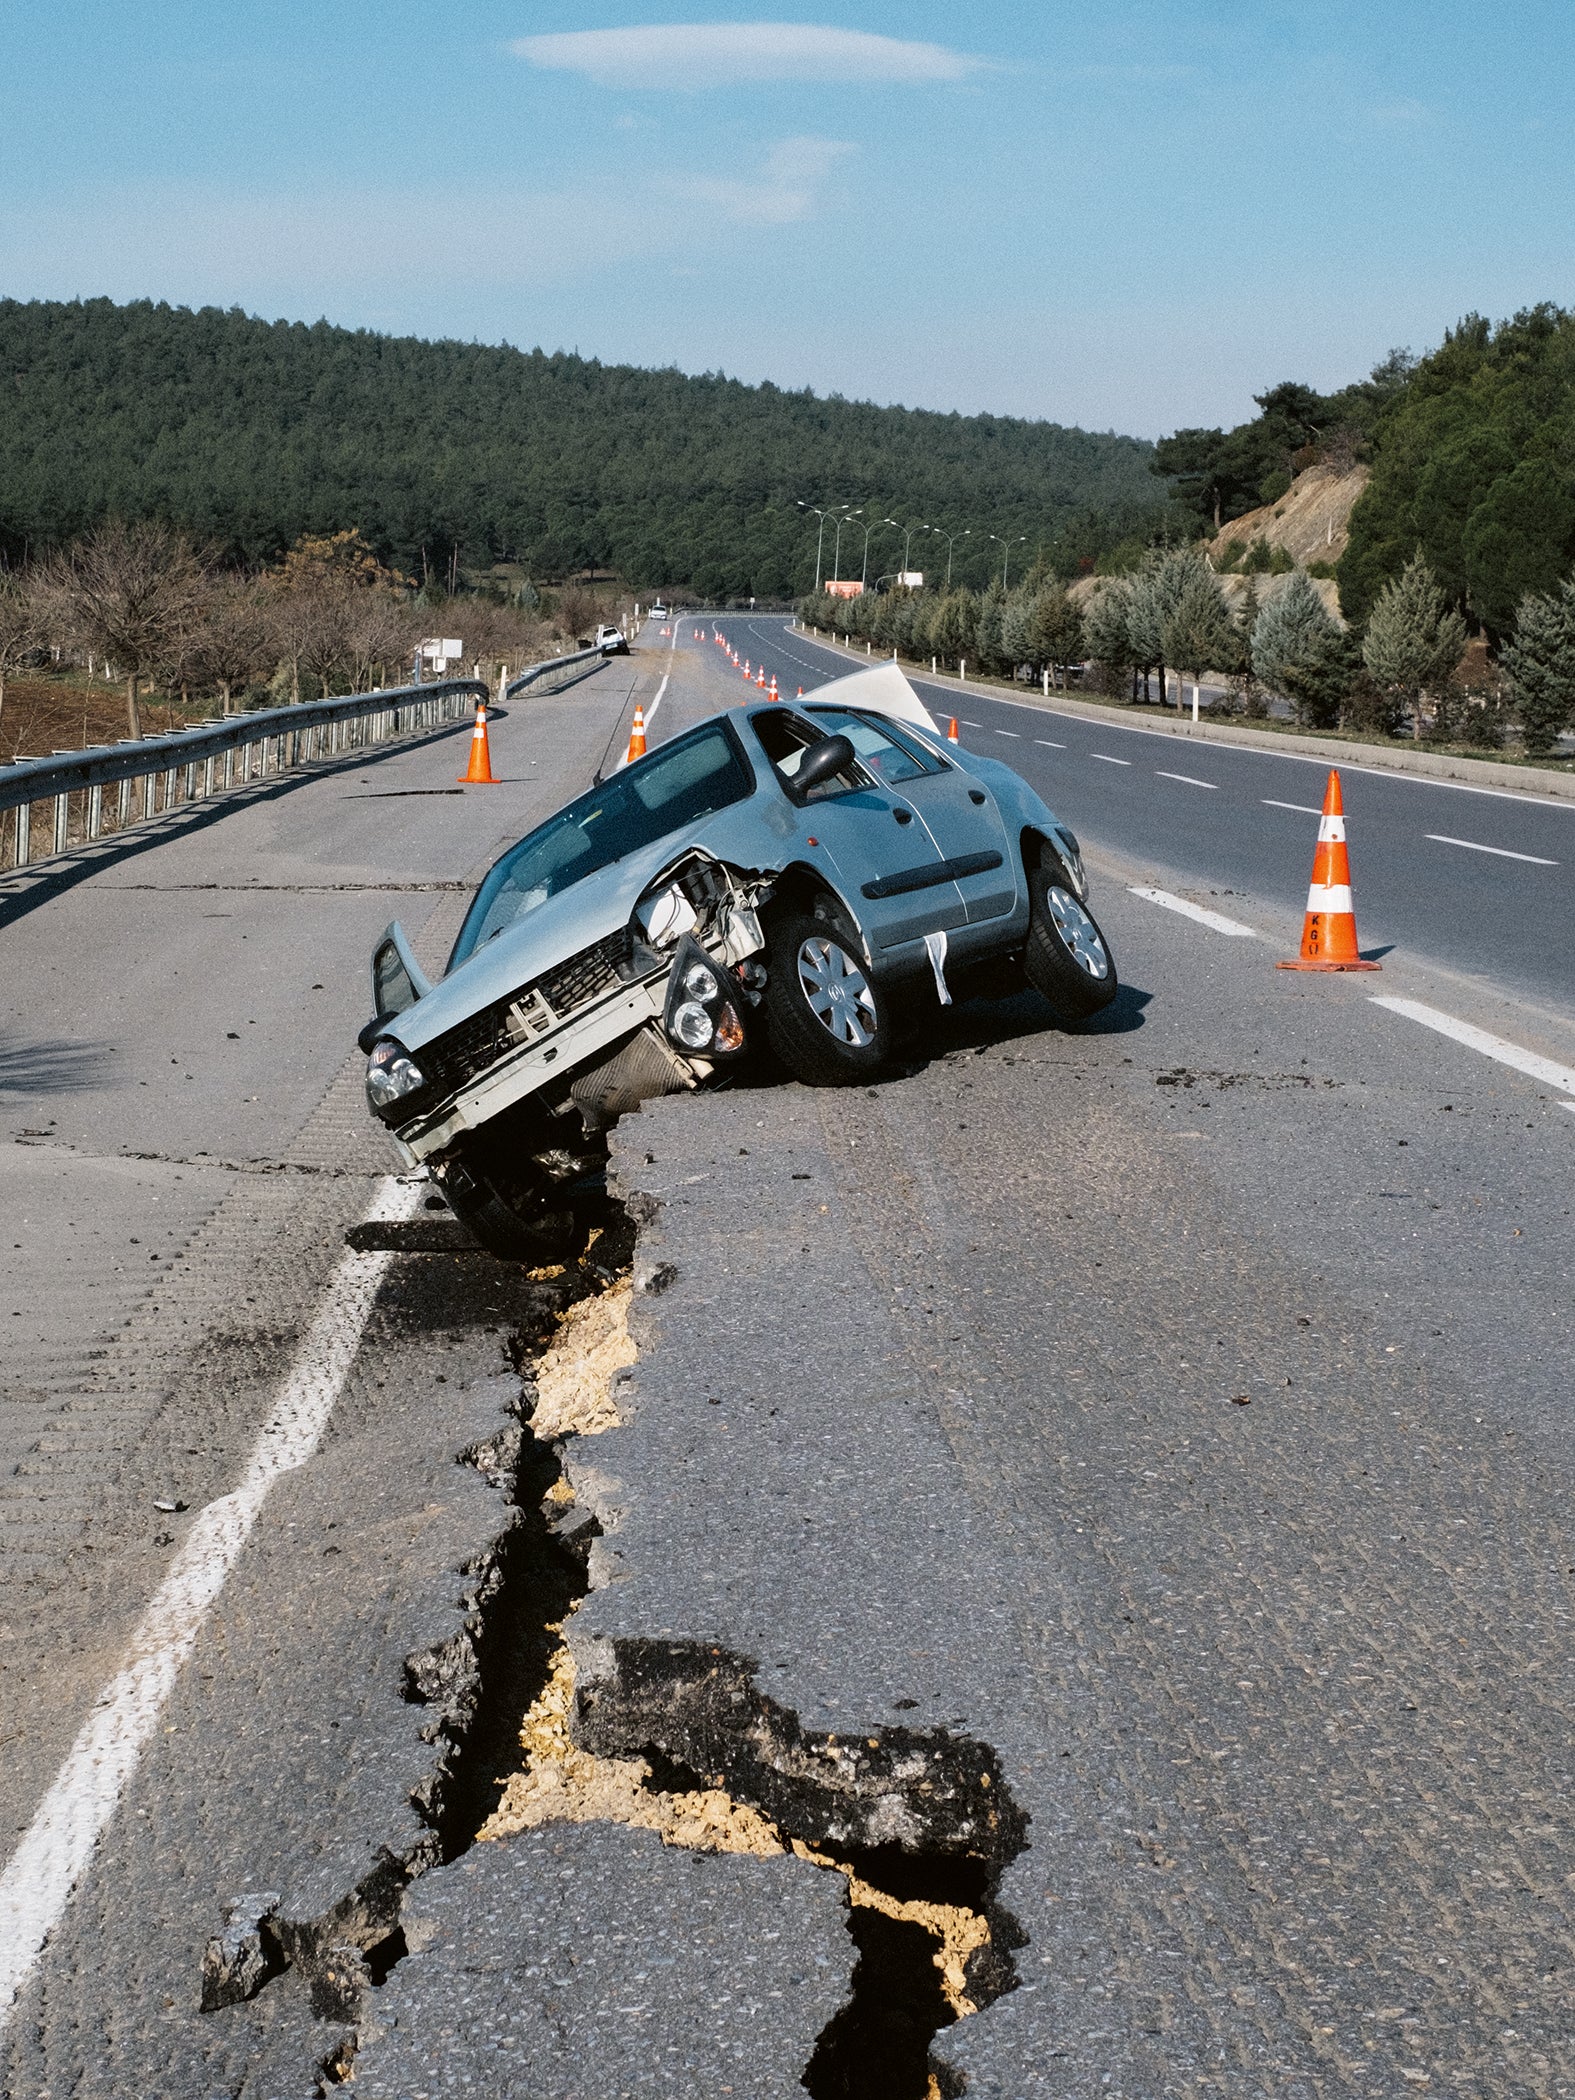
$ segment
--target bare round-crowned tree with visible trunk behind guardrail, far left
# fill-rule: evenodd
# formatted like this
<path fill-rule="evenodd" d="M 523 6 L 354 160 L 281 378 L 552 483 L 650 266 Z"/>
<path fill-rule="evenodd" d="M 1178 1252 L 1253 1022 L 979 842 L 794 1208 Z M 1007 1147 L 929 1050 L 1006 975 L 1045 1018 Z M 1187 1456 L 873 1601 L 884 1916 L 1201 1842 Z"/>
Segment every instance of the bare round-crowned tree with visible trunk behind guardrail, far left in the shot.
<path fill-rule="evenodd" d="M 185 533 L 111 519 L 50 561 L 44 601 L 63 638 L 109 657 L 126 680 L 126 722 L 143 733 L 136 687 L 178 653 L 204 565 Z"/>

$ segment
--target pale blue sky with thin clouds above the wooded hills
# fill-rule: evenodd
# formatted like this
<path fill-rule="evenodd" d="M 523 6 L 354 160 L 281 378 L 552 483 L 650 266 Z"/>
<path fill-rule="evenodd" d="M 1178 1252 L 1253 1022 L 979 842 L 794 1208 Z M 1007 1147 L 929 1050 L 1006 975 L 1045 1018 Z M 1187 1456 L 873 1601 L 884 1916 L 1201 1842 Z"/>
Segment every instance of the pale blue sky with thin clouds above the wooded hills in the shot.
<path fill-rule="evenodd" d="M 0 0 L 0 292 L 1159 435 L 1571 302 L 1575 17 Z"/>

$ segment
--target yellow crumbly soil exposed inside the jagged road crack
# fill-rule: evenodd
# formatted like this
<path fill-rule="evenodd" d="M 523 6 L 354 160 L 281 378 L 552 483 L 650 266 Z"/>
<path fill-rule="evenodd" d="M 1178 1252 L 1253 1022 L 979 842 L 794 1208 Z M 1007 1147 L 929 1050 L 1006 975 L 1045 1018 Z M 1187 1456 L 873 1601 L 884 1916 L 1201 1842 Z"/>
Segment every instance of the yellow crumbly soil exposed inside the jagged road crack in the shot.
<path fill-rule="evenodd" d="M 624 1277 L 596 1298 L 582 1298 L 563 1315 L 552 1346 L 536 1365 L 531 1428 L 538 1436 L 598 1436 L 617 1428 L 622 1418 L 613 1405 L 613 1380 L 636 1361 L 628 1331 L 632 1296 L 634 1285 Z M 554 1480 L 548 1495 L 556 1504 L 573 1502 L 567 1480 Z M 554 1625 L 548 1632 L 561 1634 L 563 1628 Z M 653 1791 L 647 1787 L 651 1766 L 645 1758 L 594 1758 L 580 1749 L 569 1732 L 571 1714 L 573 1655 L 563 1640 L 542 1697 L 519 1730 L 525 1766 L 510 1774 L 502 1800 L 477 1831 L 479 1842 L 494 1844 L 519 1831 L 540 1829 L 544 1823 L 628 1823 L 634 1829 L 657 1831 L 664 1844 L 691 1852 L 779 1858 L 792 1850 L 815 1867 L 840 1873 L 855 1907 L 922 1926 L 937 1942 L 934 1966 L 941 1970 L 941 1991 L 951 2012 L 960 2020 L 974 2012 L 964 1989 L 968 1959 L 989 1945 L 989 1926 L 979 1911 L 960 1903 L 899 1903 L 897 1896 L 863 1882 L 840 1858 L 817 1852 L 800 1838 L 783 1844 L 775 1823 L 748 1802 L 735 1802 L 722 1787 L 701 1787 L 693 1793 Z M 930 2092 L 939 2100 L 934 2079 Z"/>

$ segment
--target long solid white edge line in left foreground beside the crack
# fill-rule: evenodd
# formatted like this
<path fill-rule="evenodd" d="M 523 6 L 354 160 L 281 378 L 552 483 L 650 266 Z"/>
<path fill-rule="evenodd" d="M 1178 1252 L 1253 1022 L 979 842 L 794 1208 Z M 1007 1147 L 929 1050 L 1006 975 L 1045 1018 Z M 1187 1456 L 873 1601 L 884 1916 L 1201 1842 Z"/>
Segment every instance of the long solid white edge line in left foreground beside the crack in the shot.
<path fill-rule="evenodd" d="M 384 1180 L 368 1210 L 368 1222 L 412 1218 L 424 1195 L 426 1182 Z M 317 1449 L 391 1258 L 340 1256 L 284 1392 L 252 1445 L 242 1485 L 210 1502 L 193 1520 L 130 1638 L 126 1661 L 99 1693 L 0 1873 L 0 2031 L 160 1724 L 181 1665 L 191 1655 L 202 1621 L 225 1588 L 269 1489 L 279 1474 L 304 1466 Z"/>

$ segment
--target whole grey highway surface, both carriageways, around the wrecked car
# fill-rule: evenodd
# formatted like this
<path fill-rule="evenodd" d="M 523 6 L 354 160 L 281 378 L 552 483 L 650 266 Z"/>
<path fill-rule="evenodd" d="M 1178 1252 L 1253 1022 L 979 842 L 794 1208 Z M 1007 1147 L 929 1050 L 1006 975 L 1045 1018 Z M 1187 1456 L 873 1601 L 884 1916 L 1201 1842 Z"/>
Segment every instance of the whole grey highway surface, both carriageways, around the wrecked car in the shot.
<path fill-rule="evenodd" d="M 697 626 L 510 710 L 500 790 L 454 792 L 460 731 L 0 895 L 13 1858 L 365 1294 L 15 1964 L 0 2087 L 790 2100 L 811 2066 L 924 2100 L 932 2048 L 970 2100 L 1575 2090 L 1575 813 L 1346 775 L 1384 970 L 1294 976 L 1319 766 L 968 695 L 1082 836 L 1121 998 L 1088 1033 L 934 1010 L 878 1086 L 628 1117 L 638 1354 L 514 1462 L 586 1283 L 418 1193 L 430 1239 L 344 1266 L 391 1172 L 365 951 L 399 914 L 441 962 L 636 699 L 653 741 L 737 704 Z M 790 693 L 853 668 L 720 626 Z M 550 1531 L 582 1518 L 584 1594 Z M 475 1844 L 559 1623 L 596 1785 Z M 708 1829 L 731 1802 L 733 1850 L 632 1829 L 640 1758 Z M 248 1896 L 273 1953 L 204 2012 Z M 956 2024 L 903 1903 L 987 1934 Z"/>

